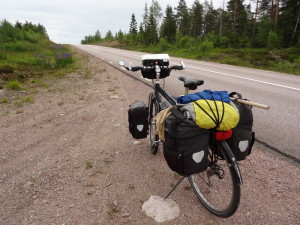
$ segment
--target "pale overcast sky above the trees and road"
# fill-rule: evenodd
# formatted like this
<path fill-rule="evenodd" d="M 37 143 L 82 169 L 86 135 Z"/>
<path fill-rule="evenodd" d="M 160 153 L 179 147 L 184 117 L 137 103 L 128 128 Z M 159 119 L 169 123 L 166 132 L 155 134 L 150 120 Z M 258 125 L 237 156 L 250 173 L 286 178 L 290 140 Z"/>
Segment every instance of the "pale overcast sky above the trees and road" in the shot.
<path fill-rule="evenodd" d="M 0 19 L 13 24 L 16 21 L 40 23 L 45 26 L 52 41 L 79 44 L 86 35 L 95 34 L 97 30 L 102 36 L 108 30 L 113 34 L 120 29 L 128 32 L 132 13 L 139 26 L 146 2 L 149 7 L 152 0 L 1 0 Z M 174 8 L 179 0 L 158 2 L 164 13 L 167 4 Z M 189 8 L 193 2 L 186 0 Z M 222 2 L 213 0 L 213 5 L 217 8 Z"/>

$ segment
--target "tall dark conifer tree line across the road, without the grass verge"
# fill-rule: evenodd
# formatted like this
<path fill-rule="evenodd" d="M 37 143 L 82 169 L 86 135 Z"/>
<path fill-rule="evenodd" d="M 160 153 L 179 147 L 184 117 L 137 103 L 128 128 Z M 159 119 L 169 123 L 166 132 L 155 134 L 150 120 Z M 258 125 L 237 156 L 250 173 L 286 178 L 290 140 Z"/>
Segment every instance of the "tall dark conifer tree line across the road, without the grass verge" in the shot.
<path fill-rule="evenodd" d="M 176 7 L 168 5 L 164 14 L 157 0 L 145 4 L 141 23 L 131 16 L 129 32 L 115 35 L 99 31 L 88 35 L 82 44 L 118 40 L 146 46 L 160 44 L 186 47 L 207 42 L 219 48 L 288 48 L 300 47 L 300 0 L 223 1 L 215 9 L 207 0 L 195 0 L 191 8 L 185 0 Z"/>

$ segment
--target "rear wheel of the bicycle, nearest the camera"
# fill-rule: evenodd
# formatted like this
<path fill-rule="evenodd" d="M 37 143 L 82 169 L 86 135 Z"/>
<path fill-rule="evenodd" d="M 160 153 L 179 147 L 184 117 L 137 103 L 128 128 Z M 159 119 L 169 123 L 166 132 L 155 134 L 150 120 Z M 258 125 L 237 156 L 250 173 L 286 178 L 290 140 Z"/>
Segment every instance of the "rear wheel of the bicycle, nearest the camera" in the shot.
<path fill-rule="evenodd" d="M 238 174 L 234 167 L 231 166 L 229 157 L 226 153 L 228 150 L 231 151 L 229 146 L 227 144 L 224 145 L 224 147 L 221 144 L 217 144 L 217 146 L 219 154 L 222 154 L 219 155 L 219 157 L 224 157 L 223 159 L 225 159 L 218 160 L 218 165 L 224 170 L 225 177 L 220 179 L 219 176 L 213 174 L 210 177 L 212 185 L 210 187 L 207 184 L 209 180 L 208 175 L 215 172 L 213 172 L 212 167 L 209 166 L 207 170 L 189 176 L 188 180 L 196 196 L 209 212 L 218 217 L 227 218 L 232 216 L 239 206 L 241 188 L 238 182 Z M 228 149 L 225 150 L 224 148 Z M 209 151 L 209 154 L 211 154 L 211 148 Z M 205 183 L 205 179 L 207 183 Z"/>

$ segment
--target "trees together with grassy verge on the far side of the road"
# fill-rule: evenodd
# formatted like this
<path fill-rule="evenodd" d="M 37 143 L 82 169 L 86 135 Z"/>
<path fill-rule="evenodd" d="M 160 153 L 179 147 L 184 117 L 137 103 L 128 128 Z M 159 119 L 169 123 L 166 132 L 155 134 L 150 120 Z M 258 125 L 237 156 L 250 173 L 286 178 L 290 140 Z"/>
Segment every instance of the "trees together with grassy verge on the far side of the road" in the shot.
<path fill-rule="evenodd" d="M 191 8 L 179 0 L 163 14 L 159 2 L 152 0 L 145 4 L 139 27 L 133 13 L 128 33 L 108 31 L 102 37 L 96 31 L 81 43 L 300 75 L 299 3 L 254 2 L 251 8 L 244 0 L 228 0 L 215 9 L 206 0 L 195 0 Z"/>

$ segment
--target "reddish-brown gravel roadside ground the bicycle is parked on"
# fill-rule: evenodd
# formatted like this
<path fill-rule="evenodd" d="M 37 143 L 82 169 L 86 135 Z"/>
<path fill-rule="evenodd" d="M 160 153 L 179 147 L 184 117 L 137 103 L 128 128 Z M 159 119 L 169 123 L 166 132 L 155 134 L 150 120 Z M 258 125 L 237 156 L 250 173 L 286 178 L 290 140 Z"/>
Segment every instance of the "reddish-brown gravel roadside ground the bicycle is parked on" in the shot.
<path fill-rule="evenodd" d="M 153 156 L 148 140 L 134 144 L 128 132 L 128 105 L 149 92 L 89 58 L 86 68 L 31 93 L 31 103 L 0 104 L 0 224 L 156 224 L 142 205 L 165 196 L 178 177 L 162 149 Z M 210 214 L 186 180 L 170 196 L 180 214 L 164 224 L 299 224 L 299 168 L 258 149 L 240 166 L 232 217 Z"/>

